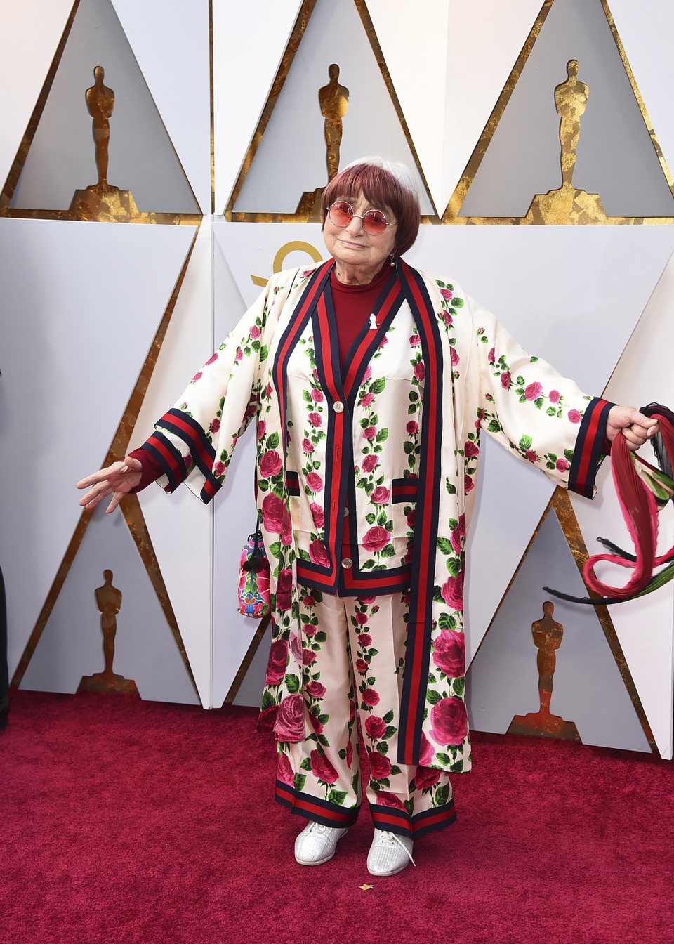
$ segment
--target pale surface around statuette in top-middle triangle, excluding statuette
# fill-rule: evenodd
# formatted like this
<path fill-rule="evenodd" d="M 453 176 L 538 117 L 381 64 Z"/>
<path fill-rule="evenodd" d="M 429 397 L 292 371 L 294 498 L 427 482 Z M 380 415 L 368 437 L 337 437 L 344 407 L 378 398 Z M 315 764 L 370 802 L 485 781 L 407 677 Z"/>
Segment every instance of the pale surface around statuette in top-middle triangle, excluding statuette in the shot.
<path fill-rule="evenodd" d="M 431 212 L 412 152 L 353 0 L 317 3 L 256 151 L 235 211 L 293 212 L 305 191 L 325 186 L 326 142 L 318 90 L 332 62 L 350 93 L 340 166 L 364 154 L 385 154 L 412 169 Z"/>

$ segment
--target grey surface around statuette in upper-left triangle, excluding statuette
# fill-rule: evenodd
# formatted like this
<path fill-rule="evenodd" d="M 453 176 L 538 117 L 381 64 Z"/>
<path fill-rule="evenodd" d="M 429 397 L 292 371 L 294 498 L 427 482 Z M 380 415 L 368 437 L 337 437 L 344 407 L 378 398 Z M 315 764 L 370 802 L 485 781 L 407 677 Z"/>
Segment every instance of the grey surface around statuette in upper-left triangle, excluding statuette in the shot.
<path fill-rule="evenodd" d="M 80 0 L 12 208 L 67 210 L 77 189 L 96 183 L 85 92 L 97 65 L 115 94 L 109 183 L 130 191 L 141 211 L 198 211 L 111 0 Z"/>

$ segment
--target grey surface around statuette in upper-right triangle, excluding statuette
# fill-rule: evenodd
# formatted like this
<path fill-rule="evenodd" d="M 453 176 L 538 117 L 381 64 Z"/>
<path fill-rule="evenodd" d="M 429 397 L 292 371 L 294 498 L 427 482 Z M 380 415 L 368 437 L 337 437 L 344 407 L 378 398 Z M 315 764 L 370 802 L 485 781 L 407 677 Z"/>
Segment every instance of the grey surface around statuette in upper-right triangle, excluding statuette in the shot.
<path fill-rule="evenodd" d="M 555 0 L 463 201 L 462 216 L 521 217 L 534 194 L 560 186 L 554 90 L 566 80 L 569 59 L 578 59 L 579 79 L 589 89 L 575 186 L 599 194 L 609 216 L 674 215 L 674 196 L 601 4 Z"/>

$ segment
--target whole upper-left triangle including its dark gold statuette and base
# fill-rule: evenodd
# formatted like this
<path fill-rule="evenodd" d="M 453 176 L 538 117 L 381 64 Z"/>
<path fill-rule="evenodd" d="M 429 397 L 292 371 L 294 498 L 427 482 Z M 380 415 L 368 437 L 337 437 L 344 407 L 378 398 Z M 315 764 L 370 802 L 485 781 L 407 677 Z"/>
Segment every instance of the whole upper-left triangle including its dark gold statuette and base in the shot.
<path fill-rule="evenodd" d="M 124 222 L 198 214 L 110 0 L 79 0 L 55 65 L 32 140 L 9 174 L 4 212 Z"/>

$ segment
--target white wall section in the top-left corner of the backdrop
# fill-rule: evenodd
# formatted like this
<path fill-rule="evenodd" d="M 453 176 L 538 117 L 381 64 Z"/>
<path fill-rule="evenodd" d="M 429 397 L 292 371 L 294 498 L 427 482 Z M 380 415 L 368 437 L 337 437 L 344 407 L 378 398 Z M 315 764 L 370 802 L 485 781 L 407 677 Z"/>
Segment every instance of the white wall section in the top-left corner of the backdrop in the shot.
<path fill-rule="evenodd" d="M 11 0 L 2 7 L 0 189 L 5 185 L 73 0 Z M 36 29 L 35 24 L 40 28 Z"/>

